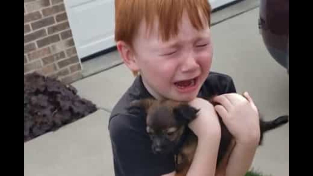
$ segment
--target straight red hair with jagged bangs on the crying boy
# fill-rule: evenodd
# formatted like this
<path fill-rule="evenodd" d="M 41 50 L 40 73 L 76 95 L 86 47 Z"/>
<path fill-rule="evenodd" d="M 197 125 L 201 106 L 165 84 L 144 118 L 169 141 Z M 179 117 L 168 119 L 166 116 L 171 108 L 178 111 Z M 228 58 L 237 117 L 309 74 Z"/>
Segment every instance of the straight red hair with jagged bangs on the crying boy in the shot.
<path fill-rule="evenodd" d="M 178 34 L 178 23 L 186 10 L 194 28 L 203 29 L 201 15 L 210 24 L 211 7 L 208 0 L 115 0 L 115 41 L 132 41 L 144 18 L 151 29 L 154 20 L 159 22 L 163 41 Z"/>

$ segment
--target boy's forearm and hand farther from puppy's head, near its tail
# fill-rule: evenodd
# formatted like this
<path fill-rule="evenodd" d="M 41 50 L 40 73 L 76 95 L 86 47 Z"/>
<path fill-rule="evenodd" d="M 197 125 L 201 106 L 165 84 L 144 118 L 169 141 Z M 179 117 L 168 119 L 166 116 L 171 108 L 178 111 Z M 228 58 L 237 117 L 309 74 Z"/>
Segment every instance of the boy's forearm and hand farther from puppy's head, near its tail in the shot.
<path fill-rule="evenodd" d="M 226 168 L 218 176 L 243 176 L 249 170 L 257 149 L 260 130 L 258 110 L 251 97 L 245 93 L 227 94 L 215 98 L 221 105 L 216 110 L 236 140 Z M 225 166 L 225 165 L 224 165 Z"/>

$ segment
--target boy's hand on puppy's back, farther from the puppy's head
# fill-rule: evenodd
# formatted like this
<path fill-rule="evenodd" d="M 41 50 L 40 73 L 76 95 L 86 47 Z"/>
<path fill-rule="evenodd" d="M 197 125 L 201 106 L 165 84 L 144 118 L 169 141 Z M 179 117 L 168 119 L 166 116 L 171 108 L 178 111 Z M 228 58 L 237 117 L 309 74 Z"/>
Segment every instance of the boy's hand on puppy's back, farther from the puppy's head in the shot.
<path fill-rule="evenodd" d="M 229 132 L 236 143 L 257 145 L 260 140 L 258 109 L 247 92 L 243 96 L 230 93 L 216 96 L 213 101 Z"/>

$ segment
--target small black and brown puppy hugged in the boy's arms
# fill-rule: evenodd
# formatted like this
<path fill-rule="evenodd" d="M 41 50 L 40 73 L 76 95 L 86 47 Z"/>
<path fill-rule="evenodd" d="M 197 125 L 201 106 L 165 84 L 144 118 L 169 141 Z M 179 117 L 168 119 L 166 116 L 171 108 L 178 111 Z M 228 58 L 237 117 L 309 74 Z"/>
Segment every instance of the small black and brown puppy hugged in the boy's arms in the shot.
<path fill-rule="evenodd" d="M 187 103 L 154 99 L 133 101 L 128 110 L 133 111 L 135 109 L 146 117 L 146 131 L 152 141 L 153 153 L 162 154 L 177 151 L 176 172 L 179 175 L 187 173 L 198 142 L 197 136 L 188 129 L 187 125 L 197 117 L 199 110 Z M 219 121 L 221 124 L 221 141 L 218 150 L 218 164 L 227 152 L 232 140 L 232 135 L 220 117 Z M 264 132 L 279 127 L 288 121 L 289 116 L 280 116 L 269 122 L 260 118 L 261 138 L 259 144 L 261 145 Z M 183 135 L 184 132 L 186 135 Z"/>

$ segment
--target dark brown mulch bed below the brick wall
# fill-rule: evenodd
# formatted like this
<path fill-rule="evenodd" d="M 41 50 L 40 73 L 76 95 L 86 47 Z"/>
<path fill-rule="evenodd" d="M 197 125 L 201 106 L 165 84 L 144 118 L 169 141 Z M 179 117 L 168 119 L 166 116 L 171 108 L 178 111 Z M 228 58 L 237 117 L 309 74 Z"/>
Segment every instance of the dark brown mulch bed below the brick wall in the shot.
<path fill-rule="evenodd" d="M 37 73 L 24 75 L 24 142 L 97 110 L 61 81 Z"/>

